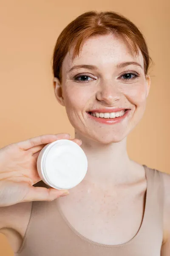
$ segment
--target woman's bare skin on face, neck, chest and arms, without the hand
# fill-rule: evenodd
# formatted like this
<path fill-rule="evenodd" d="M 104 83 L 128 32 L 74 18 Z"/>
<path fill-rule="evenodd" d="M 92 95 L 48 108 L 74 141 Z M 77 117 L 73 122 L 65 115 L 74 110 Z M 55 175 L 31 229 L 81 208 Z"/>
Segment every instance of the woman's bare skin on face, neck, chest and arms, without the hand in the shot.
<path fill-rule="evenodd" d="M 147 188 L 145 171 L 143 166 L 129 159 L 126 138 L 144 114 L 150 78 L 144 75 L 141 52 L 134 56 L 123 38 L 116 34 L 88 39 L 80 55 L 74 60 L 71 57 L 72 51 L 63 61 L 62 84 L 57 78 L 54 79 L 55 94 L 58 102 L 65 106 L 75 128 L 75 138 L 82 140 L 81 147 L 88 158 L 88 172 L 78 186 L 69 190 L 68 196 L 57 200 L 68 222 L 80 234 L 100 243 L 122 244 L 136 235 L 144 213 Z M 134 64 L 117 67 L 129 61 L 136 61 L 142 68 Z M 97 68 L 68 72 L 71 67 L 80 64 L 95 65 Z M 126 80 L 127 75 L 123 76 L 125 73 L 138 77 Z M 88 76 L 88 81 L 81 82 L 82 78 L 75 81 L 78 75 Z M 106 125 L 88 116 L 87 112 L 96 108 L 128 108 L 130 111 L 121 122 Z M 166 239 L 161 256 L 168 256 L 170 175 L 162 176 L 166 197 Z M 30 203 L 0 209 L 0 219 L 6 216 L 0 228 L 2 233 L 10 237 L 14 251 L 20 247 L 25 234 L 31 212 Z M 12 221 L 13 218 L 15 221 Z M 11 233 L 8 228 L 4 230 L 4 223 L 5 227 L 16 230 L 18 235 Z"/>

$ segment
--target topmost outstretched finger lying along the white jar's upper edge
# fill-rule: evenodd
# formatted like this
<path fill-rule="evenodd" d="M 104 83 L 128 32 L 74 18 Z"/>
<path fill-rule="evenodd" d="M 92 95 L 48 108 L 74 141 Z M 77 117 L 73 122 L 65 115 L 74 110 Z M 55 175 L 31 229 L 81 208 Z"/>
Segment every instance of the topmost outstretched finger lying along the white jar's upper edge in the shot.
<path fill-rule="evenodd" d="M 55 140 L 70 139 L 70 134 L 45 134 L 28 140 L 18 142 L 17 145 L 23 150 L 28 150 L 37 145 L 48 144 Z"/>

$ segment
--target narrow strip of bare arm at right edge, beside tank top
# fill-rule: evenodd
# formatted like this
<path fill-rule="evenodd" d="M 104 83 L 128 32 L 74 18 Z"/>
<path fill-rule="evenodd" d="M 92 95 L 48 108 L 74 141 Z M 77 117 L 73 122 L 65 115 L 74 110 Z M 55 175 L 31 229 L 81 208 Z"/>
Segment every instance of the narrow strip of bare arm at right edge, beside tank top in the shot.
<path fill-rule="evenodd" d="M 170 256 L 170 175 L 162 173 L 164 184 L 164 240 L 161 256 Z"/>

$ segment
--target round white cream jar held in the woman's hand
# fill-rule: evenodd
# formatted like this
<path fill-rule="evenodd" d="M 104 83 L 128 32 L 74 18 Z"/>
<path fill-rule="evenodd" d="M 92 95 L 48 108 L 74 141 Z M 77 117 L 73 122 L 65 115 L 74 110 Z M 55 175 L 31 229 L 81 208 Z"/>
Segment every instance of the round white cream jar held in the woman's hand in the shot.
<path fill-rule="evenodd" d="M 55 189 L 71 189 L 85 177 L 87 157 L 71 140 L 56 140 L 45 145 L 37 159 L 41 179 Z"/>

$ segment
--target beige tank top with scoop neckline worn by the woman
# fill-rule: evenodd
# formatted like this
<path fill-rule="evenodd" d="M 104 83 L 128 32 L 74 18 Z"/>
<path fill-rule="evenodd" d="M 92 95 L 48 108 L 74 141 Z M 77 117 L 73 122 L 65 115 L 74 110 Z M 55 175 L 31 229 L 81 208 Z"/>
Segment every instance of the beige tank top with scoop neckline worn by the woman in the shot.
<path fill-rule="evenodd" d="M 141 227 L 128 242 L 99 244 L 79 234 L 57 204 L 34 201 L 23 244 L 16 256 L 160 256 L 163 240 L 163 183 L 160 172 L 144 166 L 147 192 Z"/>

